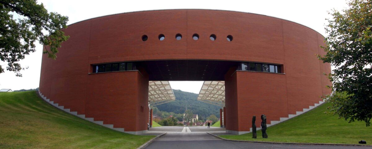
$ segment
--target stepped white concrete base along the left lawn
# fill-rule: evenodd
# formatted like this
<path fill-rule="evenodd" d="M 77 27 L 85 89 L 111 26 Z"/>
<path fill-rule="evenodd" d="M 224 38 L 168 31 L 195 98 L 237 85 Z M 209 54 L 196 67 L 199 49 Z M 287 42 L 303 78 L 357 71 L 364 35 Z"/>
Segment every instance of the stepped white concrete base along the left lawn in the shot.
<path fill-rule="evenodd" d="M 56 107 L 58 109 L 61 109 L 61 110 L 65 111 L 65 112 L 67 112 L 67 113 L 70 113 L 72 115 L 75 115 L 77 117 L 83 118 L 84 120 L 87 120 L 87 121 L 90 121 L 92 123 L 98 124 L 100 126 L 107 127 L 109 129 L 120 131 L 120 132 L 123 132 L 123 133 L 129 133 L 129 134 L 143 134 L 143 133 L 146 133 L 147 132 L 147 130 L 142 130 L 142 131 L 124 131 L 124 128 L 114 128 L 114 125 L 113 124 L 103 124 L 103 121 L 94 121 L 94 118 L 93 117 L 85 117 L 85 114 L 77 114 L 76 111 L 71 111 L 70 109 L 65 109 L 64 106 L 58 105 L 58 103 L 54 103 L 54 101 L 50 101 L 50 99 L 47 99 L 47 97 L 45 97 L 44 95 L 42 95 L 42 93 L 40 91 L 39 91 L 39 95 L 40 95 L 40 97 L 42 99 L 44 99 L 46 102 L 48 102 L 52 106 L 54 106 L 54 107 Z"/>

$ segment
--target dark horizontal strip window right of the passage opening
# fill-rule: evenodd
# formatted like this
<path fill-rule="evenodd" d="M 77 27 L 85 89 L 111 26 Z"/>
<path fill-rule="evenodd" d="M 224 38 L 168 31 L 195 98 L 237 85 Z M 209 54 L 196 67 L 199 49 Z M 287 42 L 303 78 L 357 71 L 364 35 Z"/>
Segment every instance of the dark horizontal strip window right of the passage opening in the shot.
<path fill-rule="evenodd" d="M 281 73 L 280 65 L 263 63 L 240 63 L 237 70 Z"/>

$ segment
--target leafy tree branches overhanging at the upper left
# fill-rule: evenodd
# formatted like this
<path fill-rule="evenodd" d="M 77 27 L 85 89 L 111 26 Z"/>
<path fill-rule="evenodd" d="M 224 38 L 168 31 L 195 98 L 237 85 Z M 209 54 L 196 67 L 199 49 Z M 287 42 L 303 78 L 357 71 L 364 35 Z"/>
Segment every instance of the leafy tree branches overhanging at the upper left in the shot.
<path fill-rule="evenodd" d="M 14 13 L 20 18 L 13 16 Z M 67 21 L 67 16 L 48 13 L 36 0 L 0 0 L 0 60 L 7 63 L 6 69 L 22 76 L 20 70 L 25 68 L 18 61 L 35 52 L 36 40 L 48 47 L 43 53 L 55 59 L 57 48 L 69 38 L 61 30 L 67 28 Z M 3 72 L 0 65 L 0 73 Z"/>

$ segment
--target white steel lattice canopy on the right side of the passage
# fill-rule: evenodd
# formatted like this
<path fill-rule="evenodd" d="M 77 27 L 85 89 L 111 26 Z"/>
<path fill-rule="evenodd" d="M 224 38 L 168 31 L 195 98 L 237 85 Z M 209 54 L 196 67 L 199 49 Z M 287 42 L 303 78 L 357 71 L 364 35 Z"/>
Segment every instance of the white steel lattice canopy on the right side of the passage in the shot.
<path fill-rule="evenodd" d="M 225 81 L 204 81 L 198 100 L 225 107 Z"/>

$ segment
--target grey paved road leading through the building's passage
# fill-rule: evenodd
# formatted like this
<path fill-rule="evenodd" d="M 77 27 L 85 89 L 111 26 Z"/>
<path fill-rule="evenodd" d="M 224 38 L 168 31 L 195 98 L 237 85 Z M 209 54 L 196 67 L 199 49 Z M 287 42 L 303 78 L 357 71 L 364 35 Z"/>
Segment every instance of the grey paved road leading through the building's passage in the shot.
<path fill-rule="evenodd" d="M 212 127 L 155 127 L 150 128 L 149 134 L 167 134 L 157 138 L 146 149 L 372 149 L 370 146 L 331 146 L 331 145 L 286 145 L 270 143 L 232 142 L 218 139 L 214 134 L 225 134 L 223 128 Z M 152 130 L 151 130 L 152 129 Z M 186 129 L 186 130 L 185 130 Z M 185 132 L 187 131 L 187 132 Z"/>

